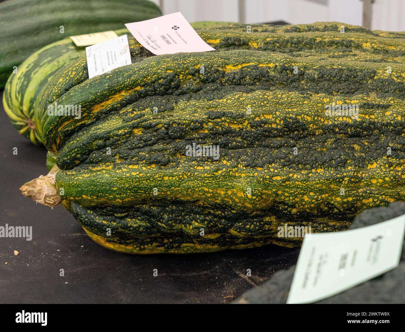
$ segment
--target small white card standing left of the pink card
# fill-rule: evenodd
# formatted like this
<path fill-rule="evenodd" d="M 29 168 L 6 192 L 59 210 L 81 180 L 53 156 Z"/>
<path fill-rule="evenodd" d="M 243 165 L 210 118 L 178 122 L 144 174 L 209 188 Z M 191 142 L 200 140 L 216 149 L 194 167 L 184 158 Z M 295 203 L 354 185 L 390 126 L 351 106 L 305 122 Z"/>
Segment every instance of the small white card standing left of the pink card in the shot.
<path fill-rule="evenodd" d="M 126 34 L 86 47 L 89 78 L 131 63 Z"/>

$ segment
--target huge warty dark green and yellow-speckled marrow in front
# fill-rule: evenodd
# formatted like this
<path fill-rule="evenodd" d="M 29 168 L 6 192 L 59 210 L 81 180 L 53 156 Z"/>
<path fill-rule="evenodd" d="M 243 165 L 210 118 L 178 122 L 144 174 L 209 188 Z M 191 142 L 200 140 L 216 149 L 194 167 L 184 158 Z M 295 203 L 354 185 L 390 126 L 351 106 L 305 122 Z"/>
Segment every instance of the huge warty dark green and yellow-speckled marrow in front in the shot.
<path fill-rule="evenodd" d="M 405 197 L 405 65 L 391 66 L 251 50 L 154 56 L 59 94 L 81 119 L 48 116 L 46 99 L 36 118 L 62 198 L 108 248 L 295 246 L 278 226 L 343 230 Z M 358 104 L 358 119 L 326 117 L 332 103 Z M 186 157 L 192 143 L 219 145 L 220 159 Z"/>

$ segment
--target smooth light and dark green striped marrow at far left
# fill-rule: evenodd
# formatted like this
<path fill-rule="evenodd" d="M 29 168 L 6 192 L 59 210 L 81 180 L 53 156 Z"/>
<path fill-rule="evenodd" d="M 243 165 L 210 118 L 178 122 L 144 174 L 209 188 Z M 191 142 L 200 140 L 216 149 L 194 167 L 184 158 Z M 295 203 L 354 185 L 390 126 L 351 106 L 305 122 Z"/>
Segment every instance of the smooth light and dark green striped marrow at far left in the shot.
<path fill-rule="evenodd" d="M 127 29 L 115 31 L 119 36 Z M 3 92 L 3 106 L 19 133 L 34 144 L 42 137 L 34 122 L 34 103 L 51 77 L 65 65 L 85 55 L 85 47 L 77 47 L 70 38 L 51 43 L 24 60 L 18 71 L 10 75 Z"/>

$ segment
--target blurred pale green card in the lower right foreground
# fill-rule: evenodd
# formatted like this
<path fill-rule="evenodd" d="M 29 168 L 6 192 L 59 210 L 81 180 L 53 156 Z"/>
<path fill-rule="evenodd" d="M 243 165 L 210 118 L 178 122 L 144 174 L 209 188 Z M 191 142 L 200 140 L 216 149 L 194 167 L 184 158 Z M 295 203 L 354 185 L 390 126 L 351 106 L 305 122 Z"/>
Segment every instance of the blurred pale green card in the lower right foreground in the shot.
<path fill-rule="evenodd" d="M 405 215 L 375 225 L 305 238 L 287 303 L 311 303 L 383 274 L 399 264 Z"/>

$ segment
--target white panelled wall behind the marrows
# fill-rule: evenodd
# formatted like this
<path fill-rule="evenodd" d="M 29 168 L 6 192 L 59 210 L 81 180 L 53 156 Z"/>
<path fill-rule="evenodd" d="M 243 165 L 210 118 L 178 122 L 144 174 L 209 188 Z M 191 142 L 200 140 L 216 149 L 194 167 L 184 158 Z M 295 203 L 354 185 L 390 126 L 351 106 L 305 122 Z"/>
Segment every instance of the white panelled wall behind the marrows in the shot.
<path fill-rule="evenodd" d="M 338 21 L 362 25 L 361 0 L 153 0 L 164 14 L 180 11 L 189 22 L 242 21 L 291 24 Z M 245 7 L 239 11 L 240 2 Z M 405 0 L 374 0 L 373 30 L 405 31 Z M 241 15 L 240 15 L 241 14 Z"/>

